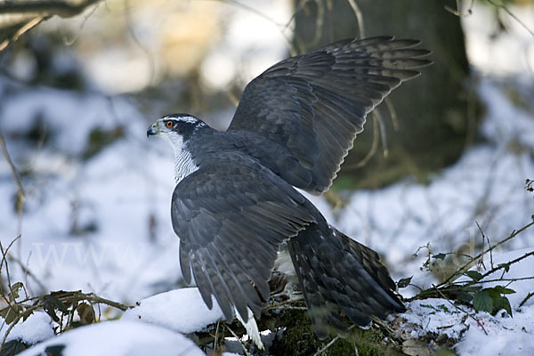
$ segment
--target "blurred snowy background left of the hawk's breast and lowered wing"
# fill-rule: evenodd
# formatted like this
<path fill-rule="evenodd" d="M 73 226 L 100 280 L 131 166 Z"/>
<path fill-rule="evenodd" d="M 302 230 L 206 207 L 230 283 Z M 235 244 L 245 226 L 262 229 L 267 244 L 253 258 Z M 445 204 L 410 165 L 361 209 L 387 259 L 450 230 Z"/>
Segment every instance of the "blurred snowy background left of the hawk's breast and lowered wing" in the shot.
<path fill-rule="evenodd" d="M 17 91 L 16 85 L 6 85 Z M 30 171 L 23 182 L 27 202 L 21 239 L 15 245 L 20 261 L 28 261 L 51 290 L 89 288 L 125 302 L 154 294 L 157 283 L 180 279 L 178 239 L 168 218 L 172 155 L 159 150 L 158 142 L 146 150 L 149 122 L 128 101 L 114 104 L 116 120 L 109 105 L 101 104 L 103 97 L 80 99 L 48 88 L 12 96 L 0 112 L 2 129 L 15 164 Z M 58 134 L 51 134 L 51 143 L 40 150 L 28 143 L 20 147 L 10 135 L 31 130 L 36 112 L 48 132 Z M 20 120 L 9 119 L 15 113 Z M 114 125 L 125 127 L 124 138 L 87 161 L 73 158 L 85 150 L 94 127 Z M 4 160 L 0 173 L 2 196 L 12 197 L 16 187 Z M 1 199 L 0 211 L 0 237 L 7 246 L 19 234 L 12 200 Z"/>

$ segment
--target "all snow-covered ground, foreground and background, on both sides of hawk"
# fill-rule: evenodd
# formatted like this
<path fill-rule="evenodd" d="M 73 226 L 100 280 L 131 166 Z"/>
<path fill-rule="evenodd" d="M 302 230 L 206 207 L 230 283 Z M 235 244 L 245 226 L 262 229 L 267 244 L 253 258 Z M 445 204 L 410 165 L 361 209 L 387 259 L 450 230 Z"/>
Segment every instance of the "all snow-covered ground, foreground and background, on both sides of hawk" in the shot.
<path fill-rule="evenodd" d="M 468 33 L 468 43 L 473 33 Z M 217 48 L 213 55 L 223 52 Z M 525 98 L 532 98 L 534 88 L 524 85 L 529 83 L 525 77 L 512 83 Z M 485 141 L 465 150 L 457 164 L 436 173 L 428 185 L 408 179 L 383 190 L 354 192 L 348 205 L 336 211 L 318 201 L 331 223 L 384 255 L 394 279 L 413 275 L 412 284 L 429 287 L 446 265 L 432 260 L 433 272 L 421 271 L 427 250 L 414 256 L 418 247 L 430 243 L 434 254 L 473 255 L 482 241 L 475 222 L 495 244 L 534 214 L 534 198 L 524 189 L 525 179 L 534 179 L 532 103 L 512 101 L 508 85 L 489 77 L 481 78 L 478 93 L 488 108 L 480 128 Z M 146 354 L 149 349 L 153 354 L 168 354 L 169 349 L 202 354 L 179 333 L 202 329 L 221 319 L 221 313 L 206 311 L 195 289 L 159 294 L 183 286 L 178 239 L 169 219 L 173 153 L 166 142 L 145 137 L 157 117 L 143 117 L 126 96 L 27 87 L 3 77 L 0 101 L 0 127 L 14 163 L 24 173 L 27 198 L 20 218 L 10 167 L 0 160 L 0 241 L 5 248 L 20 235 L 10 253 L 32 273 L 26 275 L 12 261 L 12 283 L 24 282 L 30 295 L 41 294 L 44 286 L 45 291 L 82 289 L 128 304 L 141 301 L 123 320 L 58 337 L 53 337 L 50 318 L 39 312 L 13 328 L 8 340 L 47 340 L 24 353 L 28 355 L 58 344 L 66 345 L 65 354 Z M 80 159 L 95 128 L 122 134 L 92 157 Z M 45 133 L 44 143 L 23 138 L 34 131 Z M 494 263 L 531 250 L 534 229 L 499 247 Z M 508 276 L 531 277 L 533 260 L 513 265 Z M 403 328 L 413 336 L 445 333 L 459 340 L 456 351 L 461 355 L 534 354 L 534 298 L 519 307 L 534 291 L 532 279 L 509 287 L 516 292 L 509 295 L 514 318 L 462 306 L 473 315 L 465 318 L 448 301 L 431 299 L 408 304 Z M 401 292 L 410 296 L 416 289 Z M 99 349 L 93 340 L 107 346 Z"/>

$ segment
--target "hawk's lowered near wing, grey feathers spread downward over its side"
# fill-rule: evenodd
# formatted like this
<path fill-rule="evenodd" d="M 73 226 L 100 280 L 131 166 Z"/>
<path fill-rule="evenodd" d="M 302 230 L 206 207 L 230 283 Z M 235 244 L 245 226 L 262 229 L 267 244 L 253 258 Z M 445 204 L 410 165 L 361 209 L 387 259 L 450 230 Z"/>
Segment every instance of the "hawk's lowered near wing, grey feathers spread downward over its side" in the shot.
<path fill-rule="evenodd" d="M 231 304 L 243 320 L 247 306 L 259 317 L 280 243 L 314 222 L 306 204 L 263 166 L 236 158 L 202 166 L 173 194 L 183 278 L 190 283 L 192 270 L 206 305 L 214 295 L 227 320 Z"/>

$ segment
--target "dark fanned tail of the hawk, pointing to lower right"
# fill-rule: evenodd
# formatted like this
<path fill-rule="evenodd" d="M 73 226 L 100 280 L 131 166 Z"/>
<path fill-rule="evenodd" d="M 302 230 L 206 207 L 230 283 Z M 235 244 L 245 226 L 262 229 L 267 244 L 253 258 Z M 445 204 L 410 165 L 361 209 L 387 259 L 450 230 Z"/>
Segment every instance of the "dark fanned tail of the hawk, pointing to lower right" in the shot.
<path fill-rule="evenodd" d="M 367 327 L 373 315 L 385 319 L 392 312 L 406 311 L 378 254 L 342 232 L 313 224 L 287 247 L 321 339 L 328 336 L 328 325 L 344 335 L 342 312 L 352 323 Z"/>

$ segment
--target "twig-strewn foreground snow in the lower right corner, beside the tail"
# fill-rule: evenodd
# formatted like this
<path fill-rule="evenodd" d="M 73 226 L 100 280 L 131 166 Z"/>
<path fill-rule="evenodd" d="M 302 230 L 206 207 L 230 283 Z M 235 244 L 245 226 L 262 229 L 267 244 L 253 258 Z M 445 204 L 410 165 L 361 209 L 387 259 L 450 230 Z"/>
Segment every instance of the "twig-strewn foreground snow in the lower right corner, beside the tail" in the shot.
<path fill-rule="evenodd" d="M 493 266 L 508 263 L 532 251 L 534 248 L 494 255 Z M 489 270 L 492 268 L 490 255 L 485 257 L 484 265 L 486 270 Z M 495 271 L 483 280 L 499 279 L 501 276 L 505 279 L 532 277 L 532 271 L 534 271 L 534 256 L 530 255 L 518 263 L 510 264 L 509 271 Z M 484 269 L 480 272 L 483 273 Z M 466 280 L 471 279 L 461 277 L 457 282 Z M 400 315 L 405 320 L 401 328 L 412 337 L 423 337 L 430 333 L 447 335 L 458 341 L 455 349 L 460 355 L 534 354 L 534 301 L 530 298 L 520 307 L 522 300 L 534 291 L 534 279 L 510 282 L 482 281 L 477 285 L 484 288 L 504 286 L 514 289 L 514 294 L 506 295 L 512 307 L 513 317 L 504 311 L 492 316 L 488 312 L 475 312 L 473 308 L 465 305 L 455 307 L 446 299 L 430 298 L 407 303 L 408 311 Z"/>

